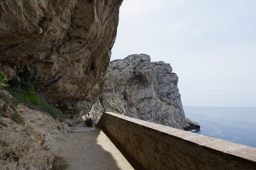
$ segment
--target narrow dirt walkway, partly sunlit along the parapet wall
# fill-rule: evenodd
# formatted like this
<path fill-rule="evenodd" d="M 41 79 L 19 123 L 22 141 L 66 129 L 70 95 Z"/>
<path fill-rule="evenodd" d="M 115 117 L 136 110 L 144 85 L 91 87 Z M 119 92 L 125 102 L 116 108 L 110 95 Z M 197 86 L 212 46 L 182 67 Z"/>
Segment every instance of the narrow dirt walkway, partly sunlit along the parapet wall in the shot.
<path fill-rule="evenodd" d="M 67 160 L 68 169 L 133 169 L 104 132 L 86 127 L 84 122 L 57 145 L 57 155 Z"/>

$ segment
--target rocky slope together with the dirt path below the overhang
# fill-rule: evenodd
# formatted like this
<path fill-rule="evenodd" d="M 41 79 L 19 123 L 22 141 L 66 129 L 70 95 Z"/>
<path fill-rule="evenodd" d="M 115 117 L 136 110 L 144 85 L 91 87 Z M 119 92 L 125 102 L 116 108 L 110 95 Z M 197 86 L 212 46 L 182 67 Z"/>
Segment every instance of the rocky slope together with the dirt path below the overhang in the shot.
<path fill-rule="evenodd" d="M 0 170 L 133 169 L 100 129 L 84 121 L 70 129 L 23 104 L 13 110 L 5 90 L 0 97 Z"/>

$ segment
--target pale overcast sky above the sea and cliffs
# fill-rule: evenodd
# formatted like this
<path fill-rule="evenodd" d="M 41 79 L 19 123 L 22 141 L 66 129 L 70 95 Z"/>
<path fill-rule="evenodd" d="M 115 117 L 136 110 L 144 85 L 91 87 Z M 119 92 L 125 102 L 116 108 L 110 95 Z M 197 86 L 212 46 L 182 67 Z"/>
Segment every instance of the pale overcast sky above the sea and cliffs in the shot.
<path fill-rule="evenodd" d="M 184 106 L 256 106 L 256 0 L 125 0 L 111 60 L 171 64 Z"/>

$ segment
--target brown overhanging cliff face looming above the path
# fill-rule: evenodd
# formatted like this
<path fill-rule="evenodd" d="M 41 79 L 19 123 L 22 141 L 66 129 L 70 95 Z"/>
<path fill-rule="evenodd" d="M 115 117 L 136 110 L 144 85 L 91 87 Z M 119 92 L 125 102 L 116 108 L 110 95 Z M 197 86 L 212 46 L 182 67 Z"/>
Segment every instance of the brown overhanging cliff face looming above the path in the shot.
<path fill-rule="evenodd" d="M 0 2 L 0 71 L 77 120 L 99 94 L 122 0 Z"/>

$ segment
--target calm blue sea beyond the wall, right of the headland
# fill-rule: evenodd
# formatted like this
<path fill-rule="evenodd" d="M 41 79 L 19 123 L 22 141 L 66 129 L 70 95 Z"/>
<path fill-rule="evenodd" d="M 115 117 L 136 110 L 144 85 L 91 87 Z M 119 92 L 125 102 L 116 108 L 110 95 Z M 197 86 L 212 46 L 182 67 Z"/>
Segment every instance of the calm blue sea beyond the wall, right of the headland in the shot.
<path fill-rule="evenodd" d="M 256 108 L 184 106 L 184 111 L 201 126 L 193 132 L 256 148 Z"/>

